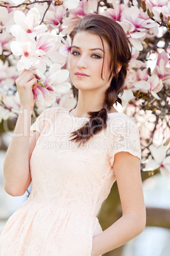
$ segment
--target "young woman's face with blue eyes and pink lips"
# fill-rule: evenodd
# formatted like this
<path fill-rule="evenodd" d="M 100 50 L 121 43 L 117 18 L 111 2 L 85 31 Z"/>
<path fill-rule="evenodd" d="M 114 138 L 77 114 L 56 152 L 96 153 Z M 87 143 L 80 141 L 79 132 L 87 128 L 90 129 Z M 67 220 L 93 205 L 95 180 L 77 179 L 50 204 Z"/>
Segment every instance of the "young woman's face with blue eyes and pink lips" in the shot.
<path fill-rule="evenodd" d="M 103 39 L 103 38 L 102 38 Z M 110 75 L 110 50 L 103 39 L 105 61 L 103 64 L 103 46 L 98 35 L 90 32 L 78 32 L 72 41 L 70 57 L 70 76 L 77 89 L 105 91 L 112 80 Z M 103 74 L 101 78 L 101 68 Z M 84 74 L 84 75 L 83 75 Z"/>

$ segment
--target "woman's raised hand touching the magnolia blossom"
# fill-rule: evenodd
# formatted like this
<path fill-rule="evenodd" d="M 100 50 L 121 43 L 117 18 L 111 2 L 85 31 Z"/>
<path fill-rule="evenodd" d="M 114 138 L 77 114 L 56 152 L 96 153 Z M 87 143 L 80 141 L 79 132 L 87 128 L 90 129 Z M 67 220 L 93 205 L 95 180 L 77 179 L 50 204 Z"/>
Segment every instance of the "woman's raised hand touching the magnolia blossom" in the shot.
<path fill-rule="evenodd" d="M 24 69 L 20 76 L 16 79 L 16 87 L 20 97 L 20 108 L 33 109 L 34 94 L 32 90 L 38 86 L 36 68 L 32 67 L 29 70 Z"/>

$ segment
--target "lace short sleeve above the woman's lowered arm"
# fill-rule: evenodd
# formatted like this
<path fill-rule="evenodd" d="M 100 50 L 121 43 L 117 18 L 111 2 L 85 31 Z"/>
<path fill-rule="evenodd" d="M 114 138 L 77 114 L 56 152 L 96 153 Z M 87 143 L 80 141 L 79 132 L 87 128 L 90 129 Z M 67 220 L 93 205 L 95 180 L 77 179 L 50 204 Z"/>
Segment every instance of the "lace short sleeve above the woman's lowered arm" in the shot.
<path fill-rule="evenodd" d="M 110 146 L 110 164 L 114 164 L 115 153 L 129 152 L 141 160 L 140 133 L 137 125 L 128 118 L 127 122 L 112 127 L 112 143 Z"/>

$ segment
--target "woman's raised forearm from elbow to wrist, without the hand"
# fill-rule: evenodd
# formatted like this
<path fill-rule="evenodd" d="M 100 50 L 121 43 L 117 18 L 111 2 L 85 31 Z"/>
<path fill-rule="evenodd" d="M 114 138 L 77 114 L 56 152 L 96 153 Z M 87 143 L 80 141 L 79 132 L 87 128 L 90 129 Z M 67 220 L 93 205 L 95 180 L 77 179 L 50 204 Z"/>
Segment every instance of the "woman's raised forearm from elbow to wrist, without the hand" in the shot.
<path fill-rule="evenodd" d="M 32 110 L 20 109 L 4 159 L 4 189 L 11 196 L 22 196 L 31 182 L 29 160 L 37 139 L 29 139 L 31 114 Z"/>

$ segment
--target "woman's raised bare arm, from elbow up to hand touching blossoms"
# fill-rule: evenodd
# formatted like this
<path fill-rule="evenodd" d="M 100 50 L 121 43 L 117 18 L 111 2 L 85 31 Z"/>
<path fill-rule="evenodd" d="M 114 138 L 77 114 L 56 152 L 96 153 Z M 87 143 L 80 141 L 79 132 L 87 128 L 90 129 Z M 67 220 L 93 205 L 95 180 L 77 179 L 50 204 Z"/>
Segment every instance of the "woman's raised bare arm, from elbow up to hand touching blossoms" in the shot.
<path fill-rule="evenodd" d="M 35 72 L 34 69 L 24 69 L 16 79 L 16 87 L 20 97 L 20 112 L 3 166 L 4 189 L 11 196 L 22 196 L 31 181 L 29 137 L 31 115 L 34 107 L 32 90 L 38 85 Z M 32 147 L 30 148 L 32 149 Z"/>

